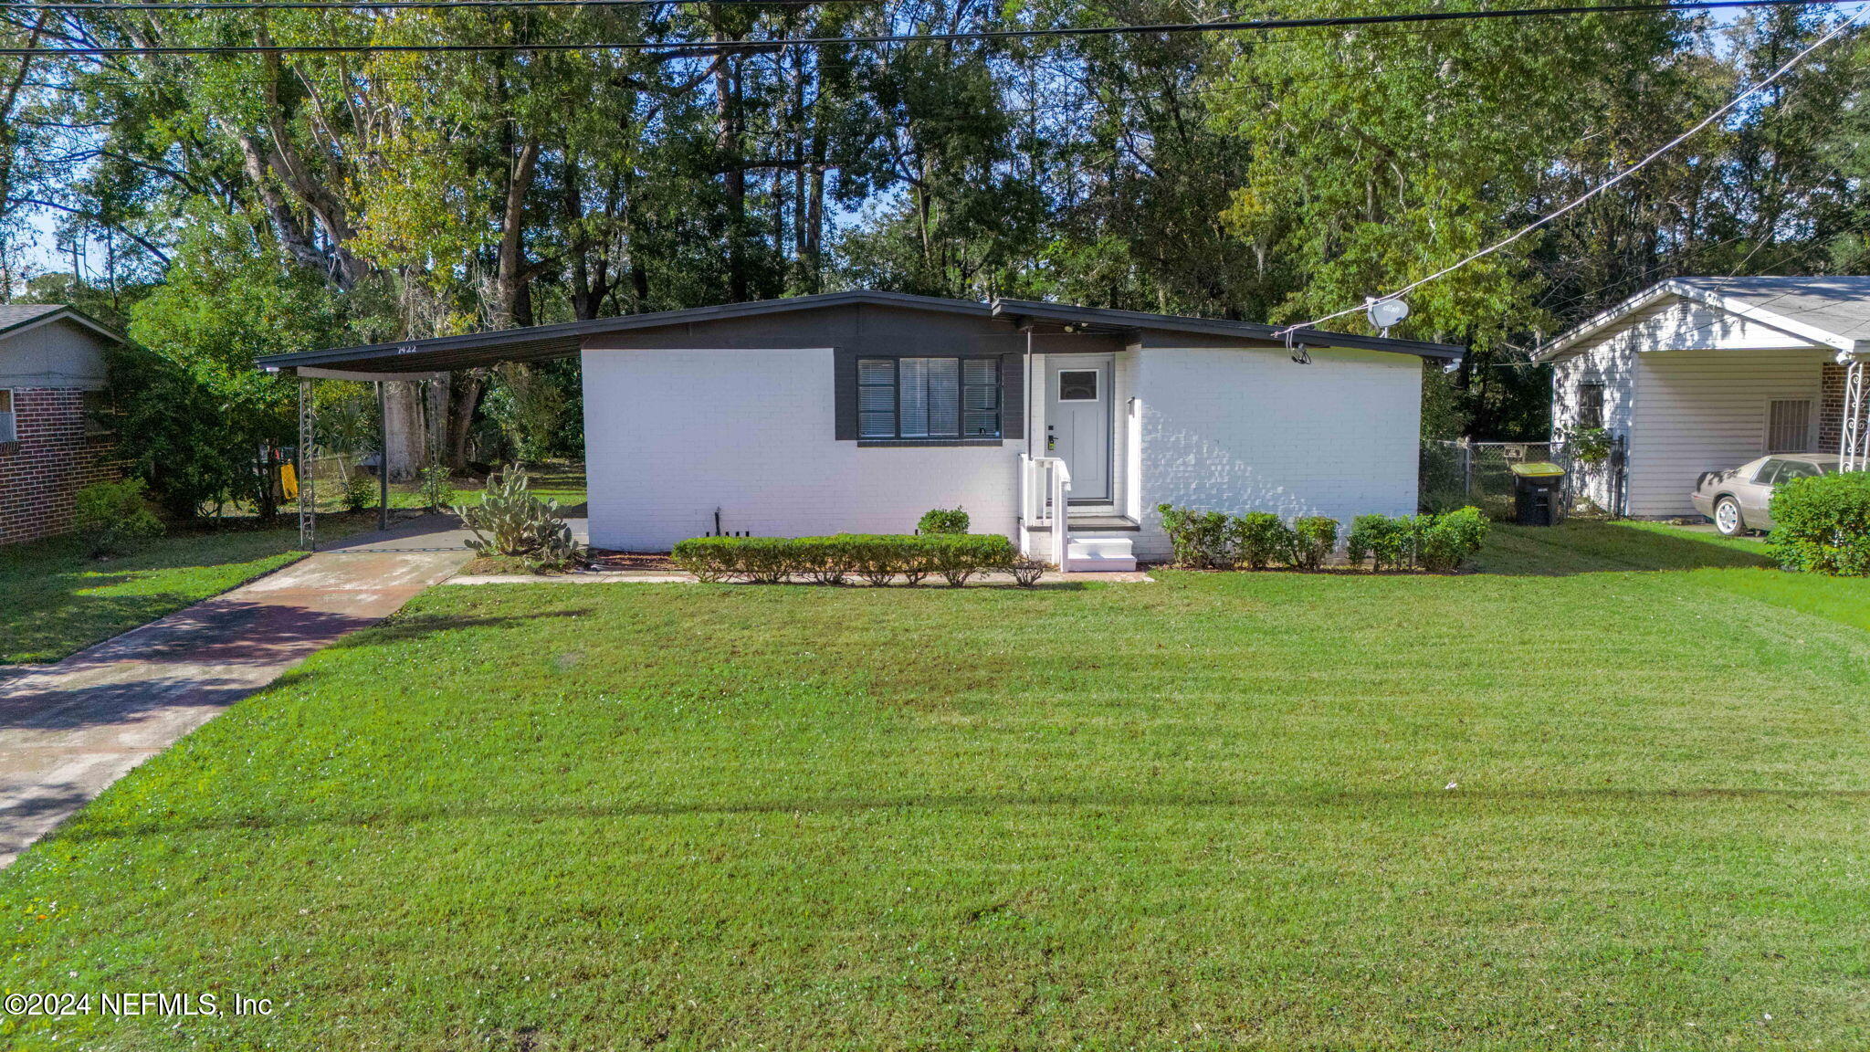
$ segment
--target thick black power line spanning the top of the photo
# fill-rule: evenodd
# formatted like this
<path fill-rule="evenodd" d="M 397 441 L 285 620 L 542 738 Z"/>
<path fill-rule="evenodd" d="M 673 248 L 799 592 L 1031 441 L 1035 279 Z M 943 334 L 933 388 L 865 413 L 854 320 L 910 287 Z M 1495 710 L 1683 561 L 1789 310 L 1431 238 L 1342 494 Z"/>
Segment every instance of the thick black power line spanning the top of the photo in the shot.
<path fill-rule="evenodd" d="M 303 0 L 316 2 L 316 0 Z M 423 0 L 438 6 L 497 6 L 494 0 Z M 507 0 L 507 2 L 544 2 L 544 0 Z M 1036 37 L 1101 37 L 1128 34 L 1208 34 L 1208 32 L 1268 32 L 1268 30 L 1305 30 L 1305 28 L 1346 28 L 1382 26 L 1399 22 L 1468 22 L 1492 19 L 1528 19 L 1558 15 L 1623 15 L 1623 13 L 1666 13 L 1666 11 L 1709 11 L 1719 7 L 1778 7 L 1790 4 L 1840 4 L 1846 0 L 1689 0 L 1683 4 L 1593 4 L 1561 7 L 1507 7 L 1485 11 L 1412 11 L 1397 15 L 1339 15 L 1309 19 L 1234 19 L 1214 22 L 1152 22 L 1124 26 L 1062 26 L 1034 30 L 967 30 L 952 34 L 875 34 L 842 37 L 765 37 L 744 41 L 604 41 L 604 43 L 357 43 L 357 45 L 153 45 L 153 47 L 7 47 L 0 56 L 140 56 L 140 54 L 357 54 L 357 52 L 509 52 L 509 51 L 669 51 L 679 47 L 683 56 L 731 54 L 744 51 L 770 51 L 782 47 L 825 47 L 825 45 L 894 45 L 894 43 L 963 43 L 989 39 L 1036 39 Z M 342 4 L 344 7 L 355 7 Z M 271 7 L 254 4 L 251 9 Z M 32 9 L 15 6 L 13 9 Z"/>

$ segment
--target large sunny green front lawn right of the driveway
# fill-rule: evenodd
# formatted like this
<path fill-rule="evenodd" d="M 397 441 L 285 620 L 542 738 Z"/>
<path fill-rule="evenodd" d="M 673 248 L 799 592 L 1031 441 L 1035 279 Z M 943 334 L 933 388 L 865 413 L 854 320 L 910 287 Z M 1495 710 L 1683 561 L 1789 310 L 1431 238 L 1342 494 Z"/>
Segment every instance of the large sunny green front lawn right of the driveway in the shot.
<path fill-rule="evenodd" d="M 0 1045 L 1864 1048 L 1870 582 L 1758 562 L 438 588 L 0 872 L 7 990 L 275 1015 Z"/>

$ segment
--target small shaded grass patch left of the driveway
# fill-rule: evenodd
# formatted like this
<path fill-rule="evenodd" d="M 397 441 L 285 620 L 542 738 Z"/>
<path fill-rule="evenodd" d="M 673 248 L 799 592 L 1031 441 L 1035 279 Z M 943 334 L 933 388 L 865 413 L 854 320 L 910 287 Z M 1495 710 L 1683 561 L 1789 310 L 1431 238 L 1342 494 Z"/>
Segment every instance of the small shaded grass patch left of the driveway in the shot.
<path fill-rule="evenodd" d="M 299 528 L 185 530 L 94 560 L 71 537 L 0 548 L 0 665 L 58 661 L 279 569 Z"/>

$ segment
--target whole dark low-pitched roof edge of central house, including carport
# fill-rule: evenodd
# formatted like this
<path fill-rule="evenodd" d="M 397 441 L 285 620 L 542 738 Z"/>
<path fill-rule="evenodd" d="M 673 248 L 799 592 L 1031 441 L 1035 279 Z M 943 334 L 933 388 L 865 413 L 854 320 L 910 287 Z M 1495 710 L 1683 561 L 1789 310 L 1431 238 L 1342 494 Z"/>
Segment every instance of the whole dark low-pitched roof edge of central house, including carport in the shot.
<path fill-rule="evenodd" d="M 400 371 L 439 371 L 494 365 L 499 361 L 527 361 L 542 358 L 568 358 L 582 350 L 583 337 L 623 333 L 632 329 L 656 329 L 668 326 L 686 326 L 698 322 L 746 318 L 755 314 L 782 314 L 791 311 L 813 311 L 823 307 L 879 305 L 907 307 L 918 311 L 942 311 L 989 318 L 1043 318 L 1064 324 L 1098 326 L 1103 329 L 1165 329 L 1208 335 L 1234 335 L 1253 341 L 1281 339 L 1273 326 L 1255 326 L 1249 322 L 1221 322 L 1210 318 L 1178 318 L 1174 314 L 1143 314 L 1135 311 L 1101 311 L 1092 307 L 1064 307 L 1057 303 L 1030 303 L 1019 300 L 1000 300 L 980 303 L 974 300 L 942 300 L 937 296 L 911 296 L 905 292 L 823 292 L 817 296 L 793 296 L 787 300 L 757 300 L 750 303 L 724 303 L 720 307 L 690 307 L 684 311 L 656 311 L 649 314 L 626 314 L 621 318 L 597 318 L 591 322 L 563 322 L 555 326 L 531 326 L 524 329 L 499 329 L 484 333 L 464 333 L 456 337 L 430 337 L 398 343 L 378 343 L 365 346 L 340 346 L 329 350 L 303 350 L 295 354 L 269 354 L 256 358 L 262 369 L 353 369 L 365 373 Z M 1459 346 L 1421 341 L 1402 341 L 1386 337 L 1358 337 L 1346 333 L 1326 333 L 1318 329 L 1300 329 L 1296 343 L 1313 348 L 1354 346 L 1365 350 L 1389 350 L 1416 354 L 1423 358 L 1453 359 L 1464 352 Z"/>

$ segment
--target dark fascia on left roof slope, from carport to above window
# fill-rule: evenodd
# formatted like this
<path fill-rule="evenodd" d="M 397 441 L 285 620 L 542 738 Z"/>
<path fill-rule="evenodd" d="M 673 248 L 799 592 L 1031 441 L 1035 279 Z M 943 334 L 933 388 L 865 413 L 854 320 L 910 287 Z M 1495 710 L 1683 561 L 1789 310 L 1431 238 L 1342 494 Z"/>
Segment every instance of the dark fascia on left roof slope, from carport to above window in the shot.
<path fill-rule="evenodd" d="M 686 326 L 724 318 L 746 318 L 755 314 L 782 314 L 789 311 L 812 311 L 817 307 L 843 307 L 851 303 L 871 303 L 879 307 L 909 307 L 918 311 L 946 311 L 952 314 L 993 316 L 987 303 L 974 300 L 941 300 L 937 296 L 911 296 L 907 292 L 819 292 L 815 296 L 791 296 L 785 300 L 754 300 L 750 303 L 722 303 L 718 307 L 688 307 L 683 311 L 654 311 L 649 314 L 625 314 L 621 318 L 595 318 L 589 322 L 561 322 L 555 326 L 529 326 L 524 329 L 496 329 L 484 333 L 464 333 L 458 337 L 408 339 L 396 343 L 374 343 L 365 346 L 337 346 L 329 350 L 299 350 L 292 354 L 267 354 L 254 359 L 260 369 L 292 369 L 297 365 L 335 365 L 381 361 L 410 354 L 447 356 L 449 352 L 494 352 L 486 354 L 490 365 L 499 361 L 497 350 L 512 344 L 540 344 L 539 354 L 529 358 L 572 356 L 583 344 L 583 337 L 625 333 L 632 329 L 654 329 L 662 326 Z"/>

